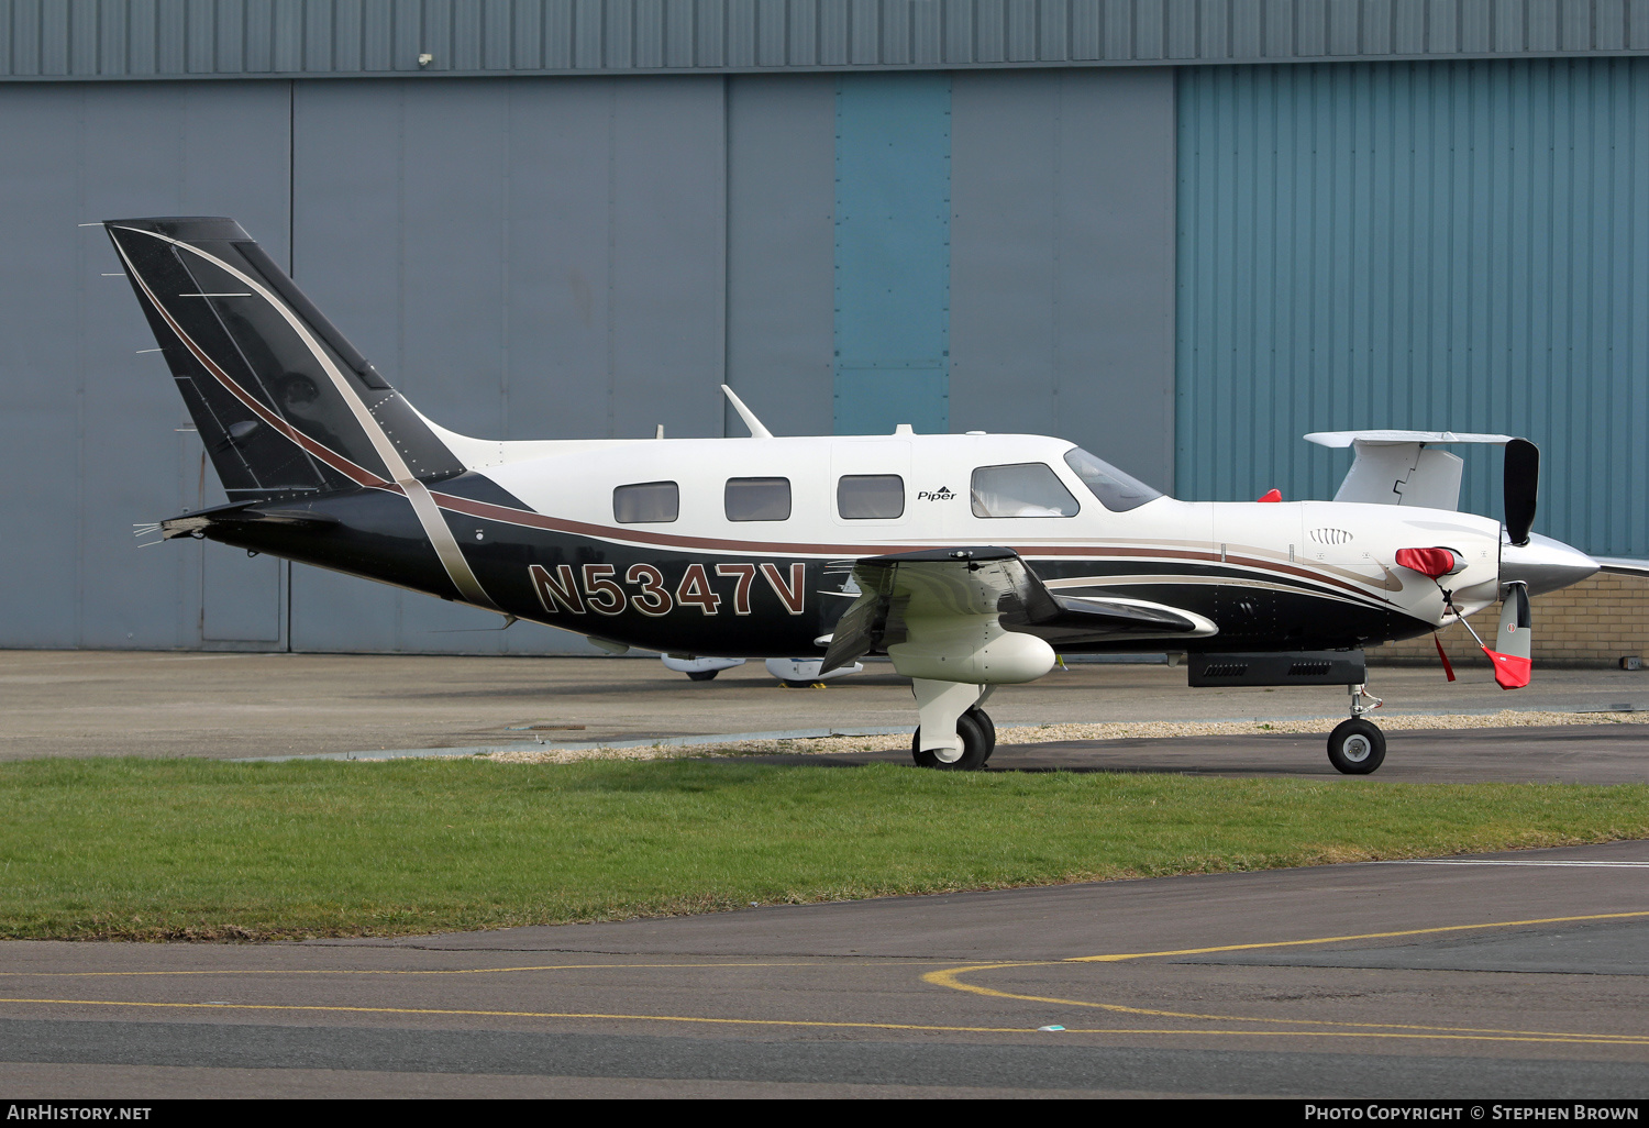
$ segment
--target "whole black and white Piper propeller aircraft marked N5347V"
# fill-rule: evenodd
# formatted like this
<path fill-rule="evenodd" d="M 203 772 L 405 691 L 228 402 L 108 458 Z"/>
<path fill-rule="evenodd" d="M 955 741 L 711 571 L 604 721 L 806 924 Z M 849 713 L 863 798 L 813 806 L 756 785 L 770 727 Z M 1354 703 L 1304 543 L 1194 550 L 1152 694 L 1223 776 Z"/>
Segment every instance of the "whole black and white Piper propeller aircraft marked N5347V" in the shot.
<path fill-rule="evenodd" d="M 1529 683 L 1529 597 L 1600 567 L 1530 534 L 1539 452 L 1510 435 L 1334 432 L 1334 501 L 1176 501 L 1042 435 L 465 439 L 420 416 L 233 219 L 104 224 L 229 503 L 162 521 L 440 599 L 679 656 L 884 653 L 915 762 L 978 768 L 999 684 L 1064 653 L 1187 651 L 1194 686 L 1351 688 L 1329 737 L 1374 772 L 1362 646 L 1504 595 L 1484 650 Z M 1456 511 L 1506 445 L 1506 523 Z M 153 526 L 150 526 L 153 528 Z M 1481 643 L 1481 640 L 1479 640 Z M 1441 646 L 1440 646 L 1441 651 Z M 1446 661 L 1446 660 L 1445 660 Z M 1453 674 L 1451 674 L 1453 676 Z"/>

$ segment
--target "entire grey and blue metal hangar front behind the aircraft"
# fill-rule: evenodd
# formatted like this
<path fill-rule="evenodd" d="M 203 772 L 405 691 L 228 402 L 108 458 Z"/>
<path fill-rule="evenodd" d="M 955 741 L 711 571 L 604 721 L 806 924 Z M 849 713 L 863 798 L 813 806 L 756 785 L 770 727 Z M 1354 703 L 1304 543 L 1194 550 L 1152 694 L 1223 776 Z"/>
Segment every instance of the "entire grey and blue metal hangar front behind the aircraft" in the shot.
<path fill-rule="evenodd" d="M 468 434 L 742 434 L 726 379 L 1238 498 L 1332 491 L 1304 430 L 1506 427 L 1547 531 L 1649 554 L 1646 48 L 1649 0 L 0 0 L 0 645 L 582 648 L 139 549 L 216 498 L 120 214 L 234 214 Z"/>

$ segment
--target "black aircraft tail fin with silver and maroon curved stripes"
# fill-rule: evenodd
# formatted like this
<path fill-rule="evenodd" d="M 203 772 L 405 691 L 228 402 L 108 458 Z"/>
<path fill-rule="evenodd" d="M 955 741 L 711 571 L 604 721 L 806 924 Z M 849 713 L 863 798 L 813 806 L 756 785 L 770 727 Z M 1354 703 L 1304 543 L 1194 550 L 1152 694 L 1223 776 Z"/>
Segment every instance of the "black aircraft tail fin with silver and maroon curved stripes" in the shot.
<path fill-rule="evenodd" d="M 104 228 L 229 501 L 463 473 L 234 219 Z"/>

